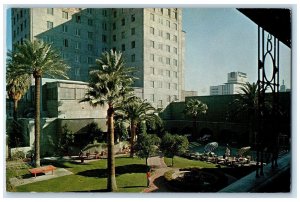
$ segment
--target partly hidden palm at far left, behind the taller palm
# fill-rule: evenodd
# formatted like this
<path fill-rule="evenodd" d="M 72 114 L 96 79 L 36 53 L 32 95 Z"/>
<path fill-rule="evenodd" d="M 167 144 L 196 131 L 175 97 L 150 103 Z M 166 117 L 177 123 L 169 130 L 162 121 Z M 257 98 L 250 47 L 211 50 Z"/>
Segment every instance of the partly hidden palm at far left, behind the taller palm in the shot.
<path fill-rule="evenodd" d="M 31 84 L 31 77 L 27 74 L 16 76 L 12 61 L 7 64 L 6 71 L 6 92 L 8 97 L 13 101 L 13 118 L 18 118 L 18 103 L 25 95 Z"/>

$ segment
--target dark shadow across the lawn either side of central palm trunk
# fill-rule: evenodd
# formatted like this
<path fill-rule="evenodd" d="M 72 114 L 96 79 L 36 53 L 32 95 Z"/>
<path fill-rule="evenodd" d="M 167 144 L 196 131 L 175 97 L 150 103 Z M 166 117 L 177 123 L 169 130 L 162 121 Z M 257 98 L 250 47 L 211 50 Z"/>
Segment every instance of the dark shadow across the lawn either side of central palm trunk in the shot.
<path fill-rule="evenodd" d="M 146 173 L 146 165 L 142 164 L 131 164 L 125 166 L 117 166 L 116 167 L 116 176 L 126 174 L 126 173 Z M 78 172 L 77 175 L 82 175 L 85 177 L 98 177 L 98 178 L 106 178 L 107 177 L 107 169 L 92 169 L 86 170 L 82 172 Z"/>

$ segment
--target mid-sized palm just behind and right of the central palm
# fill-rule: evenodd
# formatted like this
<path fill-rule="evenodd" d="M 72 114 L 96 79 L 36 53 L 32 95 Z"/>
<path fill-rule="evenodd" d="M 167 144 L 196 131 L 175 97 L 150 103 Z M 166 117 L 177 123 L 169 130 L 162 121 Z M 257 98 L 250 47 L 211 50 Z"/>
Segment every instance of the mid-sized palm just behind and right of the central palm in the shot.
<path fill-rule="evenodd" d="M 155 113 L 156 109 L 148 102 L 138 97 L 130 97 L 126 102 L 116 108 L 116 114 L 130 123 L 130 157 L 134 155 L 134 144 L 136 142 L 136 130 L 138 124 L 155 122 L 161 124 L 160 117 Z"/>

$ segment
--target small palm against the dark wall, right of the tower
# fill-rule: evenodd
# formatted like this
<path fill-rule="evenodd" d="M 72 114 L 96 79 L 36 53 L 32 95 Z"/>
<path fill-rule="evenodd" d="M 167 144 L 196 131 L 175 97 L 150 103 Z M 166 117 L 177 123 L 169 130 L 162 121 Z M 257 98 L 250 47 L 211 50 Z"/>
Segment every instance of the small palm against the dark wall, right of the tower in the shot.
<path fill-rule="evenodd" d="M 191 116 L 193 119 L 193 137 L 196 137 L 197 132 L 197 119 L 201 114 L 206 114 L 207 105 L 197 99 L 190 99 L 187 101 L 184 109 L 184 113 L 187 116 Z"/>

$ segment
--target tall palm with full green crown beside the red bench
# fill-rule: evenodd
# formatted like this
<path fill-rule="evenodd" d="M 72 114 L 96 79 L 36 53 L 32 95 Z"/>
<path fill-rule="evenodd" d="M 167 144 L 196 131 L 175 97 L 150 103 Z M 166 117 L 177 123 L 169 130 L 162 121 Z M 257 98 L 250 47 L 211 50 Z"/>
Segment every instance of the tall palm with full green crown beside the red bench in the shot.
<path fill-rule="evenodd" d="M 35 123 L 34 123 L 34 150 L 35 166 L 40 166 L 40 137 L 41 137 L 41 99 L 40 86 L 44 75 L 49 77 L 68 78 L 69 67 L 61 59 L 60 54 L 48 43 L 43 41 L 25 40 L 23 44 L 15 45 L 15 49 L 8 53 L 9 60 L 15 64 L 15 75 L 32 75 L 35 80 Z"/>

